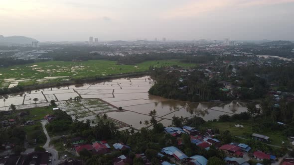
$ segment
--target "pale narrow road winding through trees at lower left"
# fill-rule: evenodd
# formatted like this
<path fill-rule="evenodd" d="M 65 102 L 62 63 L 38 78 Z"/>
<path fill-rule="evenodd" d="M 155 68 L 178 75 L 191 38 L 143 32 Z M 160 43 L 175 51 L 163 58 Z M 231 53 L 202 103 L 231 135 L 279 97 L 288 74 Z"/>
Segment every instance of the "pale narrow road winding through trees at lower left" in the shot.
<path fill-rule="evenodd" d="M 44 134 L 47 137 L 47 141 L 46 141 L 45 145 L 43 146 L 43 148 L 45 148 L 46 151 L 49 151 L 52 154 L 51 165 L 58 165 L 58 152 L 54 148 L 49 147 L 49 143 L 50 143 L 51 139 L 50 139 L 50 137 L 48 135 L 48 132 L 47 132 L 47 130 L 45 128 L 45 125 L 47 123 L 48 123 L 47 120 L 41 120 L 41 124 L 42 124 L 42 127 L 43 127 Z"/>

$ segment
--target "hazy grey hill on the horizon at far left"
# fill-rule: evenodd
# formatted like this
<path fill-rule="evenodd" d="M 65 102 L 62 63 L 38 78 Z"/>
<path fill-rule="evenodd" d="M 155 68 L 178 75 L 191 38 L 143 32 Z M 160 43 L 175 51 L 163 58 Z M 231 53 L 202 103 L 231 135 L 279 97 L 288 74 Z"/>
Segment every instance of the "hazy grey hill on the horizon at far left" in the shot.
<path fill-rule="evenodd" d="M 24 36 L 9 36 L 3 37 L 0 35 L 0 44 L 31 44 L 32 41 L 37 41 L 33 38 L 24 37 Z"/>

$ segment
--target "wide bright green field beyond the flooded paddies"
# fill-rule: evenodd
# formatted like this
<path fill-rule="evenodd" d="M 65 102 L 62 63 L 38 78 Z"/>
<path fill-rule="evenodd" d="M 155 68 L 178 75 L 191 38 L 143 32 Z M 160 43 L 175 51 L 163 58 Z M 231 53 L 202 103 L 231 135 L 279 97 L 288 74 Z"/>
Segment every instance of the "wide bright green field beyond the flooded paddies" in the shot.
<path fill-rule="evenodd" d="M 115 61 L 106 60 L 90 60 L 83 62 L 48 61 L 0 68 L 0 84 L 2 87 L 8 86 L 10 82 L 17 83 L 17 80 L 19 80 L 18 84 L 20 85 L 30 85 L 34 83 L 68 80 L 70 78 L 86 78 L 144 72 L 147 71 L 150 66 L 160 67 L 172 65 L 178 65 L 181 67 L 195 66 L 195 64 L 180 63 L 179 60 L 147 61 L 137 65 L 117 65 Z M 57 78 L 44 79 L 45 77 Z"/>

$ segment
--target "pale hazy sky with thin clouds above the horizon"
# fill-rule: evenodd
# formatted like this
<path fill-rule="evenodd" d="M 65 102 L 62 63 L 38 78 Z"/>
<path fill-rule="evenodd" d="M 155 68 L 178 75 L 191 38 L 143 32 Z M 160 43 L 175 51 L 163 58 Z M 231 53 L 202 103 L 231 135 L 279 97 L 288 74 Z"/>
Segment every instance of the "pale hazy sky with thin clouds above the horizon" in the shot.
<path fill-rule="evenodd" d="M 294 40 L 294 0 L 0 0 L 0 34 L 39 41 Z"/>

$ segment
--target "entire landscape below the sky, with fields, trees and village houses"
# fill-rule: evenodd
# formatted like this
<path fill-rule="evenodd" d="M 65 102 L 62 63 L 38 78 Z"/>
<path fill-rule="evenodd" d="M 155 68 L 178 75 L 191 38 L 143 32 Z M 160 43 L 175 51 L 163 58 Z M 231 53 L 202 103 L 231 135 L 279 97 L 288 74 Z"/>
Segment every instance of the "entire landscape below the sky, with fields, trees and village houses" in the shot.
<path fill-rule="evenodd" d="M 291 41 L 21 38 L 0 37 L 0 165 L 294 165 Z"/>

